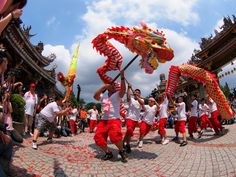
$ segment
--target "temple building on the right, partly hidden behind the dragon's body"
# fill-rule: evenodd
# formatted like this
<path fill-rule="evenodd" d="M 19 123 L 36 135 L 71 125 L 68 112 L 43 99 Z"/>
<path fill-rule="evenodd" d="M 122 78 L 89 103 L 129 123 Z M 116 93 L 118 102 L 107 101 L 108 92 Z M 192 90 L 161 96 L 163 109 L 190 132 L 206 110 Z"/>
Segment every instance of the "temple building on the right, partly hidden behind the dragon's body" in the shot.
<path fill-rule="evenodd" d="M 236 68 L 233 68 L 227 73 L 219 74 L 224 66 L 229 63 L 233 64 L 233 60 L 236 58 L 236 17 L 234 15 L 233 19 L 224 17 L 223 22 L 224 24 L 220 27 L 221 31 L 215 30 L 214 35 L 211 34 L 208 38 L 201 38 L 200 50 L 194 50 L 191 59 L 188 61 L 189 64 L 215 74 L 217 79 L 236 71 Z M 161 93 L 164 91 L 164 82 L 161 82 L 161 87 L 157 86 L 152 92 Z M 190 77 L 181 76 L 176 93 L 181 95 L 184 92 L 197 93 L 200 97 L 205 95 L 202 83 Z"/>

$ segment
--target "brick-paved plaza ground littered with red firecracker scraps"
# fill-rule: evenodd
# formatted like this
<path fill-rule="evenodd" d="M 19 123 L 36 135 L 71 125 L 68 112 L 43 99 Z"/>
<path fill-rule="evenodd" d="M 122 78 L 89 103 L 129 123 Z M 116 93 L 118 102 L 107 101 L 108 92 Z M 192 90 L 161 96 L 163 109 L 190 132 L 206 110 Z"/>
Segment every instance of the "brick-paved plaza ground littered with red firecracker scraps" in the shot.
<path fill-rule="evenodd" d="M 16 177 L 77 177 L 77 176 L 181 176 L 181 177 L 236 177 L 236 129 L 225 126 L 227 134 L 213 136 L 208 131 L 200 140 L 190 141 L 185 147 L 170 142 L 156 143 L 157 131 L 151 132 L 138 148 L 138 129 L 133 137 L 133 151 L 128 163 L 122 163 L 116 148 L 111 145 L 112 161 L 102 161 L 103 153 L 93 141 L 93 135 L 82 133 L 75 137 L 54 139 L 46 144 L 39 138 L 38 150 L 31 148 L 31 138 L 22 146 L 15 146 L 11 171 Z M 123 129 L 125 131 L 125 129 Z M 174 130 L 167 129 L 169 138 Z"/>

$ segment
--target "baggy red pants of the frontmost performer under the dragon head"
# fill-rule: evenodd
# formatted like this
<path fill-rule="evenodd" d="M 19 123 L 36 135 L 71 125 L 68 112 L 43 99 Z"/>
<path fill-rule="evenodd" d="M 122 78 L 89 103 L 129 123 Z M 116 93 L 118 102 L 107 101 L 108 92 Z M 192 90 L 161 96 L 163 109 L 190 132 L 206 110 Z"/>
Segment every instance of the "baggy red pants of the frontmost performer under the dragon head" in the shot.
<path fill-rule="evenodd" d="M 122 141 L 121 121 L 120 119 L 100 120 L 97 125 L 97 130 L 94 140 L 98 146 L 107 146 L 107 138 L 110 138 L 112 143 Z"/>

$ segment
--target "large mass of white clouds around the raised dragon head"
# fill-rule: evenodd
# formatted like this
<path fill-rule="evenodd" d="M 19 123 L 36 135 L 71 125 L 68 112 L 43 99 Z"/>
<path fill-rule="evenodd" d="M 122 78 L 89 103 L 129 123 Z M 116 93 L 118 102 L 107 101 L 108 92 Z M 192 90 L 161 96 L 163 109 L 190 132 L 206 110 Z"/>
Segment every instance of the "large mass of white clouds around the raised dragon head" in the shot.
<path fill-rule="evenodd" d="M 176 3 L 178 8 L 176 8 Z M 79 83 L 81 86 L 81 97 L 87 102 L 94 101 L 93 94 L 95 90 L 102 85 L 96 70 L 100 67 L 105 58 L 100 56 L 92 48 L 91 41 L 96 35 L 102 33 L 106 28 L 111 26 L 137 25 L 137 21 L 144 20 L 150 26 L 157 27 L 156 21 L 165 19 L 175 21 L 182 25 L 190 25 L 197 23 L 198 15 L 194 12 L 196 0 L 100 0 L 94 1 L 92 4 L 87 3 L 87 12 L 82 19 L 85 22 L 83 35 L 75 36 L 75 42 L 71 48 L 74 48 L 77 40 L 80 40 L 79 59 L 77 67 L 77 78 L 75 86 Z M 160 64 L 159 68 L 152 74 L 148 75 L 138 66 L 135 61 L 126 71 L 126 77 L 135 88 L 142 90 L 143 96 L 147 96 L 151 90 L 159 82 L 159 74 L 167 73 L 170 65 L 179 65 L 186 62 L 194 48 L 198 48 L 198 44 L 192 41 L 185 34 L 177 33 L 171 29 L 162 29 L 166 34 L 168 43 L 175 51 L 175 58 L 168 63 Z M 135 55 L 129 52 L 123 45 L 118 42 L 111 41 L 123 55 L 123 67 Z M 54 52 L 57 55 L 57 71 L 67 73 L 68 66 L 72 56 L 72 50 L 65 49 L 63 46 L 45 46 L 45 53 Z M 114 76 L 117 72 L 109 73 Z"/>

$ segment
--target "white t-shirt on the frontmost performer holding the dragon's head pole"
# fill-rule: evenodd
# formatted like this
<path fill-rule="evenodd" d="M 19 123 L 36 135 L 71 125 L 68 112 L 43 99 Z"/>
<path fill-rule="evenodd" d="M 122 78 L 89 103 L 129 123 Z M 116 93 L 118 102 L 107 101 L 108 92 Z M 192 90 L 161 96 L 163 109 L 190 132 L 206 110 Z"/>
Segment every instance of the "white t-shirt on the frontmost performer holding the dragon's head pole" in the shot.
<path fill-rule="evenodd" d="M 101 95 L 102 101 L 102 120 L 111 120 L 120 118 L 120 102 L 121 98 L 119 91 L 108 97 L 108 93 Z"/>

